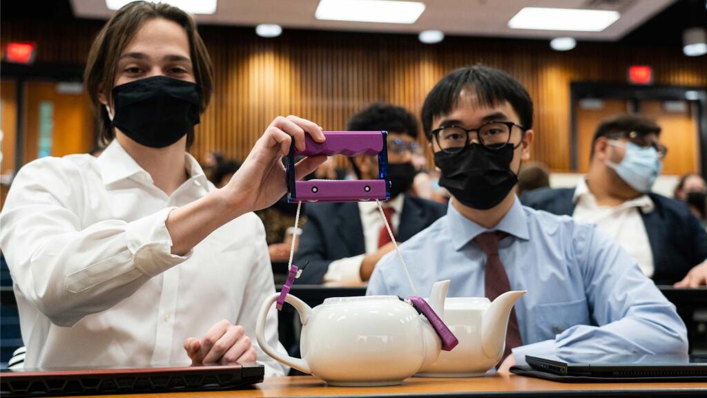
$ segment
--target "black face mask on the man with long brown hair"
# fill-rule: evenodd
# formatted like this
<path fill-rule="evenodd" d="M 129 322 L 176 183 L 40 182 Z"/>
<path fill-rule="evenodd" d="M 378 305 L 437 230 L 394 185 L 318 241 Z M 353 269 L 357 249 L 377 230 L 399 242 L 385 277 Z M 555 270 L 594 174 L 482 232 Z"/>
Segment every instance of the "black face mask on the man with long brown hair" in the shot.
<path fill-rule="evenodd" d="M 112 99 L 112 127 L 147 147 L 168 147 L 199 124 L 201 88 L 189 81 L 148 77 L 113 87 Z"/>

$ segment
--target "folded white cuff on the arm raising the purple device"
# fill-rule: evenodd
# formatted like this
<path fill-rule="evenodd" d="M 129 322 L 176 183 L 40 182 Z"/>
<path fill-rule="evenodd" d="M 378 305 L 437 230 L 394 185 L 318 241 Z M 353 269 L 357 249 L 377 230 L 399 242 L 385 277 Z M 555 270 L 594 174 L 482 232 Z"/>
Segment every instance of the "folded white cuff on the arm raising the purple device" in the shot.
<path fill-rule="evenodd" d="M 155 276 L 184 262 L 194 249 L 184 256 L 172 254 L 172 237 L 165 225 L 167 217 L 177 207 L 167 207 L 128 224 L 127 246 L 133 254 L 135 268 L 148 276 Z"/>

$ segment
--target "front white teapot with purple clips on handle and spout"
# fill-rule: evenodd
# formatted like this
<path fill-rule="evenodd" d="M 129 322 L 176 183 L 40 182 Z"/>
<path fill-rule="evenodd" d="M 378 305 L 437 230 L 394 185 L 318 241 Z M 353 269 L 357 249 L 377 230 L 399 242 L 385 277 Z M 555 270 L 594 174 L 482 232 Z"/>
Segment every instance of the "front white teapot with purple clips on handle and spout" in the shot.
<path fill-rule="evenodd" d="M 429 305 L 443 318 L 449 280 L 433 285 Z M 287 295 L 300 314 L 302 359 L 269 346 L 265 318 L 279 293 L 265 300 L 256 337 L 265 353 L 281 363 L 310 373 L 329 385 L 397 385 L 428 368 L 440 353 L 441 341 L 426 317 L 397 296 L 332 297 L 315 308 Z"/>

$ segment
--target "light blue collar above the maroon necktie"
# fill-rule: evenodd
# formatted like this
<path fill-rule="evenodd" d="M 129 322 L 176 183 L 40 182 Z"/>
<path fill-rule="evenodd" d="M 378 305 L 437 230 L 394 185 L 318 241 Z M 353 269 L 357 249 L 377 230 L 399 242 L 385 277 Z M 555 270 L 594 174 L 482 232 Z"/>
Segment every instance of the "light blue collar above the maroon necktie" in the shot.
<path fill-rule="evenodd" d="M 452 198 L 452 200 L 454 199 Z M 513 206 L 511 206 L 506 215 L 501 218 L 501 221 L 496 224 L 496 227 L 493 227 L 492 229 L 481 227 L 481 225 L 476 222 L 464 217 L 457 211 L 457 209 L 455 209 L 454 206 L 452 206 L 452 200 L 450 200 L 449 208 L 447 210 L 447 224 L 450 234 L 452 235 L 452 244 L 454 245 L 455 250 L 461 250 L 469 243 L 469 241 L 472 241 L 480 234 L 489 231 L 502 231 L 513 235 L 518 239 L 530 239 L 525 210 L 523 210 L 518 198 L 513 200 Z"/>

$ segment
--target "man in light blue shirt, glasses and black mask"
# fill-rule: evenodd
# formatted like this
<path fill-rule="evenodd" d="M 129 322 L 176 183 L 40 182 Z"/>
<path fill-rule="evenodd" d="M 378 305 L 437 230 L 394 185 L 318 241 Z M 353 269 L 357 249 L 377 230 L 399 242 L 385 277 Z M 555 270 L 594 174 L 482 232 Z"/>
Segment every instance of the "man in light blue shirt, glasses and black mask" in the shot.
<path fill-rule="evenodd" d="M 535 134 L 518 81 L 490 67 L 457 69 L 428 94 L 422 122 L 452 200 L 445 217 L 400 247 L 402 258 L 422 297 L 445 279 L 448 297 L 527 290 L 510 314 L 499 372 L 526 355 L 686 355 L 674 306 L 619 244 L 592 224 L 520 204 L 518 169 Z M 413 295 L 397 256 L 375 266 L 366 294 Z"/>

